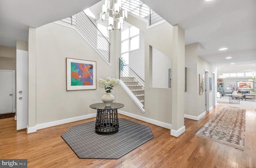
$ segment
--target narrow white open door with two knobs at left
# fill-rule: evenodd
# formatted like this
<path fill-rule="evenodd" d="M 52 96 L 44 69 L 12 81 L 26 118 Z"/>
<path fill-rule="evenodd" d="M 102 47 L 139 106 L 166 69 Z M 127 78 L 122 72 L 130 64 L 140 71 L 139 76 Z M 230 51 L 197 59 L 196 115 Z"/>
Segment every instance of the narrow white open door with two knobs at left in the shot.
<path fill-rule="evenodd" d="M 28 51 L 16 50 L 17 130 L 28 125 Z"/>

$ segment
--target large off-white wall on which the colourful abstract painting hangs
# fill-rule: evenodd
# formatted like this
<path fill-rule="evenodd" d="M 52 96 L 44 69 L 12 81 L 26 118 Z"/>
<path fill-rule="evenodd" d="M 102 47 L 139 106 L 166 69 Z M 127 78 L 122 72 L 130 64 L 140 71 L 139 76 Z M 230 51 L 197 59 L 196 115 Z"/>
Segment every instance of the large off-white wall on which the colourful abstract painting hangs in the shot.
<path fill-rule="evenodd" d="M 49 23 L 36 29 L 36 37 L 36 124 L 96 113 L 89 105 L 102 102 L 104 88 L 97 83 L 96 90 L 66 91 L 66 57 L 96 61 L 96 82 L 116 77 L 115 64 L 108 66 L 74 29 Z"/>

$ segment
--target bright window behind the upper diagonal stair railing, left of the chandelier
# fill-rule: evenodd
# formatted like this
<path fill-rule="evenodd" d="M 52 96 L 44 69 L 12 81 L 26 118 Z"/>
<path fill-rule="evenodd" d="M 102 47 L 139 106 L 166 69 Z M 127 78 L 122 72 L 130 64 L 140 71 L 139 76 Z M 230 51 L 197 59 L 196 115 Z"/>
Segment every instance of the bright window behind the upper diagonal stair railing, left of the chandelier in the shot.
<path fill-rule="evenodd" d="M 109 33 L 107 27 L 101 24 L 97 24 L 97 27 L 101 32 L 97 32 L 97 47 L 100 50 L 106 51 L 108 50 L 108 43 L 106 43 L 106 39 L 109 41 Z"/>

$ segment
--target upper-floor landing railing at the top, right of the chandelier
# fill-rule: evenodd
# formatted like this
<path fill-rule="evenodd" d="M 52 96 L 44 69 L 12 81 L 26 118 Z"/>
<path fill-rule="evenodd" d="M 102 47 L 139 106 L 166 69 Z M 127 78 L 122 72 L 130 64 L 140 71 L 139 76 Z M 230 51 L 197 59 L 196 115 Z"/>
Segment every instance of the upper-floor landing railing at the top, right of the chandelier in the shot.
<path fill-rule="evenodd" d="M 122 1 L 122 9 L 127 10 L 128 12 L 131 12 L 137 16 L 140 16 L 142 18 L 145 18 L 148 20 L 149 25 L 153 25 L 154 23 L 157 23 L 158 21 L 164 20 L 162 17 L 160 17 L 156 12 L 154 12 L 152 9 L 150 9 L 148 6 L 146 6 L 143 2 L 140 0 L 125 0 Z"/>

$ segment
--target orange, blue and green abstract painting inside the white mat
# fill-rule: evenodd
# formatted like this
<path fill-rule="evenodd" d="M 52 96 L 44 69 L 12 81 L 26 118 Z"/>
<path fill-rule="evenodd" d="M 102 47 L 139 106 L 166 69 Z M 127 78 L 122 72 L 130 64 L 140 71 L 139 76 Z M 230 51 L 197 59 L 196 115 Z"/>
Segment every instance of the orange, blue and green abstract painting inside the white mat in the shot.
<path fill-rule="evenodd" d="M 71 62 L 71 86 L 93 85 L 93 65 Z"/>

